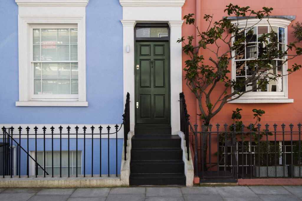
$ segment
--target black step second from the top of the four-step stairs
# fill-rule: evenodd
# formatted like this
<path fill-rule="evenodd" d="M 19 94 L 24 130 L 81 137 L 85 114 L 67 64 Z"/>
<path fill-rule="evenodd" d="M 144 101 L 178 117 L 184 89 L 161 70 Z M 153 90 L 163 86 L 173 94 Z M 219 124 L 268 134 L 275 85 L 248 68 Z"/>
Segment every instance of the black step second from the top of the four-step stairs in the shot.
<path fill-rule="evenodd" d="M 182 160 L 181 148 L 132 148 L 132 160 Z"/>

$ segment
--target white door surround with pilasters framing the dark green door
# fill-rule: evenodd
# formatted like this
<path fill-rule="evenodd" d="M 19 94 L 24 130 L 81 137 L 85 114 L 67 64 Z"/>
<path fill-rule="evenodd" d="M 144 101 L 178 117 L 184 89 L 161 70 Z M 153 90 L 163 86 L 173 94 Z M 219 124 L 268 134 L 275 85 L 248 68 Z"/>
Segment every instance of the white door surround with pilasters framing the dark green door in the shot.
<path fill-rule="evenodd" d="M 185 0 L 120 0 L 123 6 L 124 97 L 130 93 L 130 130 L 134 130 L 134 26 L 136 23 L 168 23 L 170 27 L 170 80 L 172 134 L 180 130 L 179 93 L 182 92 L 182 6 Z M 127 45 L 130 51 L 127 52 Z M 124 100 L 125 104 L 125 100 Z"/>

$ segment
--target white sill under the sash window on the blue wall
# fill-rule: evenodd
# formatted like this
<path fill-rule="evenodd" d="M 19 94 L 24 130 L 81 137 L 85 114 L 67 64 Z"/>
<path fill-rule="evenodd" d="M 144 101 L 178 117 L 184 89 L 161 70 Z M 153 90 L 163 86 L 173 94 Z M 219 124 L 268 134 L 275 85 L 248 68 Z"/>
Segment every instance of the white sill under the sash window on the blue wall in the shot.
<path fill-rule="evenodd" d="M 16 101 L 16 106 L 82 106 L 87 107 L 87 101 Z"/>

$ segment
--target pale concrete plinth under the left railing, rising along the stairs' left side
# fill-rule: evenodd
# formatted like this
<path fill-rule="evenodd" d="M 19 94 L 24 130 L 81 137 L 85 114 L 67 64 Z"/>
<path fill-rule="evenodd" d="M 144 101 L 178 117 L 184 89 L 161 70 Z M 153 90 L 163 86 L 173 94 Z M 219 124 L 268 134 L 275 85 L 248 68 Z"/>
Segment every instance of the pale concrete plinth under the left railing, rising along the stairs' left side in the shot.
<path fill-rule="evenodd" d="M 121 174 L 117 176 L 115 174 L 109 175 L 62 175 L 62 177 L 47 175 L 38 175 L 37 178 L 34 175 L 21 176 L 5 176 L 0 178 L 0 188 L 96 188 L 96 187 L 129 187 L 129 175 L 130 175 L 130 150 L 131 150 L 131 138 L 134 135 L 134 131 L 128 133 L 127 139 L 127 154 L 126 161 L 124 160 L 124 144 L 123 153 L 121 159 Z"/>

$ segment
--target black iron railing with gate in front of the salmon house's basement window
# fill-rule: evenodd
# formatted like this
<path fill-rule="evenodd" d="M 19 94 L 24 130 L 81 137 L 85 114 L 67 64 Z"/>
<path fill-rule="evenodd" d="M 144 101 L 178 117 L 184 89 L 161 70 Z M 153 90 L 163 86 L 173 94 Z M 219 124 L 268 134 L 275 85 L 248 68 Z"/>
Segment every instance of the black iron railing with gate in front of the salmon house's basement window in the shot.
<path fill-rule="evenodd" d="M 195 136 L 194 172 L 206 178 L 301 178 L 301 126 L 268 124 L 249 126 L 220 124 L 197 131 Z M 204 161 L 202 135 L 207 135 L 207 161 Z"/>

